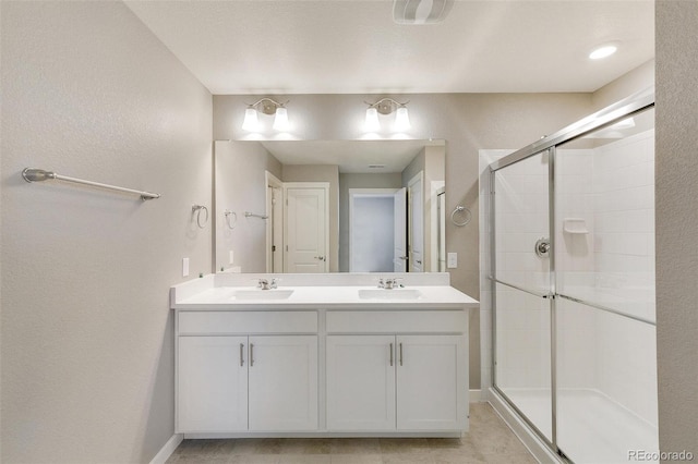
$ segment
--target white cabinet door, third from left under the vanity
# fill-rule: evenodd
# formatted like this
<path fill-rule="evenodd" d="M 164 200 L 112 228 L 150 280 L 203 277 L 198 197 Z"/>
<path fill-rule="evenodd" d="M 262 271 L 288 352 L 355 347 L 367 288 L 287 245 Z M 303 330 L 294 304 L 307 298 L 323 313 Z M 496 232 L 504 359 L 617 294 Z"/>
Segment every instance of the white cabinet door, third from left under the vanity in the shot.
<path fill-rule="evenodd" d="M 327 429 L 395 430 L 395 337 L 327 337 Z"/>

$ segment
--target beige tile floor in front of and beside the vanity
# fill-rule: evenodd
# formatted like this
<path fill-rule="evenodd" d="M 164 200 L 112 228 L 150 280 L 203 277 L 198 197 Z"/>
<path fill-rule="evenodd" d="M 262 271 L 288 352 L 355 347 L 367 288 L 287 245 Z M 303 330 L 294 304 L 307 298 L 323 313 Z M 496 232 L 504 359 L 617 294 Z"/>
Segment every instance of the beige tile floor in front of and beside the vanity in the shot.
<path fill-rule="evenodd" d="M 184 440 L 168 463 L 535 464 L 489 403 L 470 404 L 464 438 L 245 438 Z"/>

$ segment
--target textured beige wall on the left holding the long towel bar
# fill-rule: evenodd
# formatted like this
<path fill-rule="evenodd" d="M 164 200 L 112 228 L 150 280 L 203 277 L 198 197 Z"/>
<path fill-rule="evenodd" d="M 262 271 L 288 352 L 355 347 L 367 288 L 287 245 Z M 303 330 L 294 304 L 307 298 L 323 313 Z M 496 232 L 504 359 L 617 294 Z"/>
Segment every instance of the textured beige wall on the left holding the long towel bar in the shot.
<path fill-rule="evenodd" d="M 212 96 L 120 2 L 1 9 L 0 461 L 148 462 L 173 434 L 168 290 L 182 257 L 210 270 Z"/>

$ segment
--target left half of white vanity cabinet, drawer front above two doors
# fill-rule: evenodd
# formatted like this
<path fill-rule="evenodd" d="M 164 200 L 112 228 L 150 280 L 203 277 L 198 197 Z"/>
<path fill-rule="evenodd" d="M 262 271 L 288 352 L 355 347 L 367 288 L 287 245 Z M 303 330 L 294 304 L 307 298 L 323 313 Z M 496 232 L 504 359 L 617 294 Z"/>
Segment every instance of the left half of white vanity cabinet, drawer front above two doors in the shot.
<path fill-rule="evenodd" d="M 316 430 L 316 333 L 315 312 L 179 312 L 177 431 Z"/>

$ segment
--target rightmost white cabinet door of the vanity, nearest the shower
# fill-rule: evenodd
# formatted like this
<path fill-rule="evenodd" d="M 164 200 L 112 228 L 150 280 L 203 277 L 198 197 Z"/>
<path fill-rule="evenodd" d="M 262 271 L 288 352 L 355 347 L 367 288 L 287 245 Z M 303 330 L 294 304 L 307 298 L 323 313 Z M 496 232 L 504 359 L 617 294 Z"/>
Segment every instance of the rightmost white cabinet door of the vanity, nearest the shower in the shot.
<path fill-rule="evenodd" d="M 397 337 L 398 430 L 456 430 L 467 420 L 462 335 Z"/>

